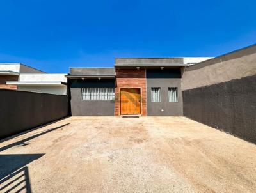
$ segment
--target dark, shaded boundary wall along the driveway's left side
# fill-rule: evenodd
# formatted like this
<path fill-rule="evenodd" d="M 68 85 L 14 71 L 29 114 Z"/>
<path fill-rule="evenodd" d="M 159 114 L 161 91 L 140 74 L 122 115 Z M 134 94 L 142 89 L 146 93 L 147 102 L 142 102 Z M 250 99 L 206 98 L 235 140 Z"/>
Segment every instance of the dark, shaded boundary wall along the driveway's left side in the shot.
<path fill-rule="evenodd" d="M 0 139 L 68 116 L 68 96 L 0 89 Z"/>

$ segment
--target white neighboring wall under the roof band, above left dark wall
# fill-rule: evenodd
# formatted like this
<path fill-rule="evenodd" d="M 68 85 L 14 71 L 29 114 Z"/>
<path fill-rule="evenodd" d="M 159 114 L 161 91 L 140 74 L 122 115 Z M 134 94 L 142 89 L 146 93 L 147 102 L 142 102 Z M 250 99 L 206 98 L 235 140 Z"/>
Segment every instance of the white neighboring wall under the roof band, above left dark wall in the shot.
<path fill-rule="evenodd" d="M 19 91 L 29 91 L 36 93 L 51 93 L 56 95 L 66 95 L 67 86 L 18 86 Z"/>

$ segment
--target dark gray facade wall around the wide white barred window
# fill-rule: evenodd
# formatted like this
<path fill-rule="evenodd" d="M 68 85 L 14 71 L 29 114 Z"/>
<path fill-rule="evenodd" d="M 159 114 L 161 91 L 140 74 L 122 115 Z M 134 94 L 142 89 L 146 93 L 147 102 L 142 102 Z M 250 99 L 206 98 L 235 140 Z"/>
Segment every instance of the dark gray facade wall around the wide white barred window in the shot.
<path fill-rule="evenodd" d="M 81 100 L 81 88 L 115 88 L 115 79 L 70 79 L 72 116 L 114 116 L 115 100 Z"/>

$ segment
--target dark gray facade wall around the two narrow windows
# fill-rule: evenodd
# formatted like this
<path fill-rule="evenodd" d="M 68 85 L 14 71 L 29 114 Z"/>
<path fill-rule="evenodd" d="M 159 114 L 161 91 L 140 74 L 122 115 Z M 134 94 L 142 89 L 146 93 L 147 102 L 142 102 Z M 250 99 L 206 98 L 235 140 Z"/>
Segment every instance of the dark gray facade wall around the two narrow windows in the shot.
<path fill-rule="evenodd" d="M 180 69 L 147 70 L 148 116 L 183 116 Z M 161 102 L 151 102 L 151 88 L 160 87 Z M 178 102 L 168 102 L 168 88 L 178 88 Z M 161 109 L 164 111 L 162 112 Z"/>

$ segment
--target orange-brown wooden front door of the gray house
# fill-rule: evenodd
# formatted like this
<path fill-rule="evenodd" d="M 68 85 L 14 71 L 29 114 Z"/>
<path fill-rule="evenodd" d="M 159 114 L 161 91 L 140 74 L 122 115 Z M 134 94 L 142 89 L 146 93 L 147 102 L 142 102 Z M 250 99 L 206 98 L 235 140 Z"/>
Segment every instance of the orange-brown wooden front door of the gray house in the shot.
<path fill-rule="evenodd" d="M 121 89 L 121 114 L 140 114 L 140 88 Z"/>

